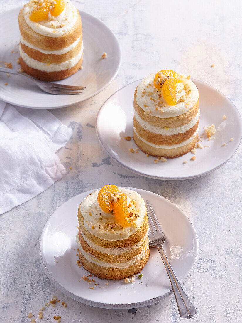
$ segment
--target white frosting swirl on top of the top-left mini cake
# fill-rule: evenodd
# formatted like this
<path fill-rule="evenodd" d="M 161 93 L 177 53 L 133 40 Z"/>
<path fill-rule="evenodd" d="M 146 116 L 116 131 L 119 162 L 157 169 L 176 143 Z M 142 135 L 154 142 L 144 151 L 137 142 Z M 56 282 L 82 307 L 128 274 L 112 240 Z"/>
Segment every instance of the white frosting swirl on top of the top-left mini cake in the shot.
<path fill-rule="evenodd" d="M 33 29 L 36 33 L 48 36 L 48 37 L 60 37 L 69 32 L 76 24 L 77 11 L 76 7 L 69 0 L 65 0 L 65 8 L 59 16 L 54 17 L 53 20 L 48 21 L 47 19 L 41 21 L 32 21 L 29 16 L 32 10 L 35 8 L 34 2 L 29 2 L 24 5 L 24 18 L 28 26 Z M 53 28 L 55 24 L 56 28 Z M 58 28 L 58 26 L 63 27 Z"/>

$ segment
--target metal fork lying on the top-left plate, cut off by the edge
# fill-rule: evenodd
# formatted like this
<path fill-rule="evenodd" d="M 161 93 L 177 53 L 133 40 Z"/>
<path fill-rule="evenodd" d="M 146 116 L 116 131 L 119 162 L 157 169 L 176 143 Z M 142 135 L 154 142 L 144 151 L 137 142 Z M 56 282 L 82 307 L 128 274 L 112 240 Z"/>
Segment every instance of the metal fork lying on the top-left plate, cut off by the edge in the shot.
<path fill-rule="evenodd" d="M 85 86 L 72 86 L 72 85 L 64 85 L 64 84 L 58 84 L 58 83 L 52 83 L 52 82 L 45 82 L 45 81 L 40 81 L 37 80 L 36 78 L 33 78 L 32 76 L 22 73 L 22 72 L 17 72 L 14 71 L 10 68 L 4 68 L 0 67 L 0 72 L 5 72 L 9 74 L 16 74 L 16 75 L 21 75 L 25 76 L 25 78 L 30 78 L 32 81 L 34 81 L 37 86 L 42 89 L 43 91 L 51 94 L 61 94 L 61 95 L 66 95 L 66 94 L 78 94 L 82 93 L 79 90 L 83 90 L 86 87 Z"/>

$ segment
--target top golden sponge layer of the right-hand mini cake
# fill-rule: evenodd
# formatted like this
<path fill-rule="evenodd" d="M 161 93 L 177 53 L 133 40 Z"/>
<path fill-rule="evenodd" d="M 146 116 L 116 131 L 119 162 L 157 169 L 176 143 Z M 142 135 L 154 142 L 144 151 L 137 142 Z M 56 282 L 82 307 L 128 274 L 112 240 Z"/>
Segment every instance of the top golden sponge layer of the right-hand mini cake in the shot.
<path fill-rule="evenodd" d="M 139 117 L 143 119 L 144 121 L 150 123 L 152 126 L 158 126 L 161 128 L 177 128 L 177 127 L 182 127 L 189 123 L 194 117 L 196 117 L 198 109 L 199 109 L 199 100 L 197 101 L 194 106 L 188 110 L 186 113 L 181 114 L 180 116 L 177 117 L 171 117 L 171 118 L 158 118 L 151 116 L 149 114 L 145 114 L 144 110 L 140 108 L 136 101 L 136 93 L 137 93 L 137 88 L 135 90 L 135 95 L 134 95 L 134 109 L 138 113 Z"/>

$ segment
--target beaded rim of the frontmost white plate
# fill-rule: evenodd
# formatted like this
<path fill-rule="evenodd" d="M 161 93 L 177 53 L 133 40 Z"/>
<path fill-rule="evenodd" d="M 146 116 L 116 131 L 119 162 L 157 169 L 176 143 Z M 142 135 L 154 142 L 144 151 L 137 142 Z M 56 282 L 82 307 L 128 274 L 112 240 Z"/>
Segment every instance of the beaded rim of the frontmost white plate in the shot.
<path fill-rule="evenodd" d="M 184 286 L 187 283 L 187 281 L 190 279 L 190 277 L 192 276 L 192 274 L 194 273 L 194 271 L 195 271 L 195 269 L 197 267 L 197 262 L 198 262 L 198 258 L 199 258 L 199 251 L 200 251 L 200 248 L 199 248 L 199 240 L 198 240 L 197 231 L 196 231 L 193 223 L 191 222 L 191 220 L 189 219 L 189 217 L 187 216 L 187 214 L 179 208 L 179 206 L 177 206 L 175 203 L 171 202 L 170 200 L 166 199 L 164 196 L 159 195 L 159 194 L 154 193 L 154 192 L 151 192 L 151 191 L 143 190 L 143 189 L 140 189 L 140 188 L 126 187 L 126 186 L 124 186 L 124 188 L 133 189 L 133 190 L 137 190 L 138 189 L 140 191 L 144 191 L 144 192 L 148 192 L 148 193 L 155 194 L 158 197 L 160 197 L 162 199 L 165 199 L 166 201 L 168 201 L 169 203 L 171 203 L 173 206 L 175 206 L 183 214 L 183 216 L 185 216 L 187 218 L 187 220 L 191 224 L 191 226 L 192 226 L 192 228 L 194 230 L 194 233 L 195 233 L 196 241 L 197 241 L 197 254 L 196 254 L 196 258 L 195 258 L 194 264 L 191 267 L 189 273 L 182 280 L 182 282 L 180 282 L 181 286 Z M 90 194 L 90 193 L 92 193 L 92 192 L 94 192 L 96 190 L 98 190 L 98 189 L 88 190 L 88 191 L 79 193 L 77 195 L 80 195 L 80 194 L 83 194 L 83 193 Z M 71 197 L 69 200 L 67 200 L 64 203 L 62 203 L 55 211 L 57 211 L 66 202 L 69 202 L 70 200 L 74 199 L 77 195 Z M 55 211 L 52 214 L 54 214 Z M 143 307 L 143 306 L 147 306 L 147 305 L 150 305 L 150 304 L 154 304 L 154 303 L 157 303 L 157 302 L 165 299 L 166 297 L 170 296 L 171 294 L 173 294 L 173 290 L 171 289 L 168 292 L 166 292 L 165 294 L 162 294 L 162 295 L 160 295 L 158 297 L 150 298 L 150 299 L 147 299 L 147 300 L 141 301 L 141 302 L 125 303 L 125 304 L 124 303 L 123 304 L 109 304 L 109 303 L 101 303 L 101 302 L 91 301 L 91 300 L 85 299 L 83 297 L 77 296 L 77 295 L 73 294 L 72 292 L 68 291 L 65 287 L 63 287 L 60 283 L 58 283 L 55 280 L 55 278 L 50 274 L 50 272 L 48 271 L 48 269 L 47 269 L 47 267 L 45 265 L 45 262 L 44 262 L 44 259 L 42 257 L 42 253 L 41 253 L 41 243 L 42 243 L 42 239 L 43 239 L 43 234 L 44 234 L 44 231 L 46 229 L 46 226 L 48 225 L 47 223 L 48 223 L 50 217 L 52 216 L 52 214 L 46 220 L 45 225 L 44 225 L 44 227 L 42 229 L 42 232 L 40 234 L 39 244 L 38 244 L 39 260 L 40 260 L 40 264 L 41 264 L 41 266 L 42 266 L 42 268 L 43 268 L 43 270 L 45 272 L 45 275 L 49 278 L 49 280 L 52 282 L 52 284 L 55 285 L 55 287 L 57 287 L 61 292 L 63 292 L 67 296 L 75 299 L 76 301 L 78 301 L 80 303 L 83 303 L 83 304 L 86 304 L 86 305 L 90 305 L 90 306 L 94 306 L 94 307 L 108 308 L 108 309 L 116 309 L 116 308 L 118 308 L 118 309 L 128 309 L 128 308 Z"/>

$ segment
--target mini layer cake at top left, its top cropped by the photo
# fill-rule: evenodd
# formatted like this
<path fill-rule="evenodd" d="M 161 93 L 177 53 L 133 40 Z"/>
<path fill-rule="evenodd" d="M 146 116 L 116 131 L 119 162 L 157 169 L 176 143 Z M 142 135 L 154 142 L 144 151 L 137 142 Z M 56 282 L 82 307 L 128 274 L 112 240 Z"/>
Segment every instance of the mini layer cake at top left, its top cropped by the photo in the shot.
<path fill-rule="evenodd" d="M 82 22 L 67 0 L 30 0 L 18 16 L 20 65 L 43 81 L 76 73 L 82 65 Z"/>

